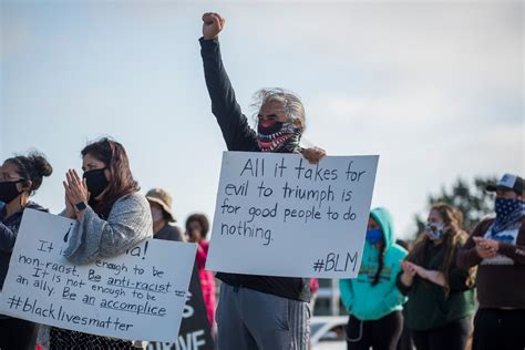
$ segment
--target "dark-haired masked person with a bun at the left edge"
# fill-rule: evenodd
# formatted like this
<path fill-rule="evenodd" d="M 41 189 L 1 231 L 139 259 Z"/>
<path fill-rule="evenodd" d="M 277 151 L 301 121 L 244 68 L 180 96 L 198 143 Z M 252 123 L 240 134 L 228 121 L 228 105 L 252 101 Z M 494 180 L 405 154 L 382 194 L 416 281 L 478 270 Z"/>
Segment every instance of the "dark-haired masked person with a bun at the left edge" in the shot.
<path fill-rule="evenodd" d="M 29 200 L 53 168 L 38 153 L 6 159 L 0 166 L 0 290 L 8 274 L 17 234 L 27 208 L 47 212 Z M 0 349 L 34 349 L 38 325 L 0 315 Z"/>

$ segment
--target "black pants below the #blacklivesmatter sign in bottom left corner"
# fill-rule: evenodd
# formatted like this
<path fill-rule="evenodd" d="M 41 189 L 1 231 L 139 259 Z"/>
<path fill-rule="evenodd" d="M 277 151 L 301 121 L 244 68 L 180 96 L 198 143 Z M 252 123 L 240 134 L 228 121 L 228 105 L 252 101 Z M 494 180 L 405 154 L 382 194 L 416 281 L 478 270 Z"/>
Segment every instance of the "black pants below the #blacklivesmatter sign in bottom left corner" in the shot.
<path fill-rule="evenodd" d="M 34 350 L 39 325 L 18 318 L 0 319 L 0 349 Z"/>

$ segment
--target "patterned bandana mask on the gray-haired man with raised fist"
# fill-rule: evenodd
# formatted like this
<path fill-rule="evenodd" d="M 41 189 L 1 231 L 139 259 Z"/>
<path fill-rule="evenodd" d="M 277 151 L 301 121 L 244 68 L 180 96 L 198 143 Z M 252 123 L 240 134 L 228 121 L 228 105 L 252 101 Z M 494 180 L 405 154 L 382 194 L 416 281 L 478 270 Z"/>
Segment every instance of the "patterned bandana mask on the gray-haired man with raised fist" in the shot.
<path fill-rule="evenodd" d="M 257 137 L 262 152 L 295 152 L 299 148 L 301 128 L 294 123 L 259 121 Z"/>

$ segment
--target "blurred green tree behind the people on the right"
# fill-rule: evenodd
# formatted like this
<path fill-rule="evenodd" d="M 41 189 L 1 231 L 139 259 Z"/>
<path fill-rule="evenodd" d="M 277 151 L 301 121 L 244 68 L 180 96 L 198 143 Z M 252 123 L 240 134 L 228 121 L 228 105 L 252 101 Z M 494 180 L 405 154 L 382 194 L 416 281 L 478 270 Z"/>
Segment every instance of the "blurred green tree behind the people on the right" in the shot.
<path fill-rule="evenodd" d="M 459 178 L 451 188 L 441 188 L 437 195 L 429 195 L 428 209 L 435 203 L 446 203 L 459 208 L 464 215 L 464 228 L 471 231 L 480 220 L 494 213 L 494 194 L 485 191 L 490 183 L 495 183 L 496 177 L 474 177 L 469 182 Z M 414 215 L 415 225 L 418 225 L 419 235 L 424 230 L 426 217 L 420 214 Z"/>

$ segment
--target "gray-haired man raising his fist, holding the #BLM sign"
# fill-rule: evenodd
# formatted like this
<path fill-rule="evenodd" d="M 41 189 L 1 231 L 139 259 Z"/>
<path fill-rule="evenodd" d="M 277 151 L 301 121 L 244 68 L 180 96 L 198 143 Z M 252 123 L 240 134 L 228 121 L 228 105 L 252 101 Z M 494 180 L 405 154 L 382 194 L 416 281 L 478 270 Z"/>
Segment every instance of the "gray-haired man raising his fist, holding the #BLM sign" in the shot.
<path fill-rule="evenodd" d="M 299 145 L 305 128 L 301 101 L 282 89 L 256 93 L 257 132 L 248 125 L 224 69 L 218 34 L 225 20 L 203 16 L 200 54 L 212 112 L 229 151 L 302 153 L 318 163 L 325 151 Z M 217 307 L 219 349 L 307 349 L 309 341 L 307 279 L 217 274 L 223 281 Z"/>

